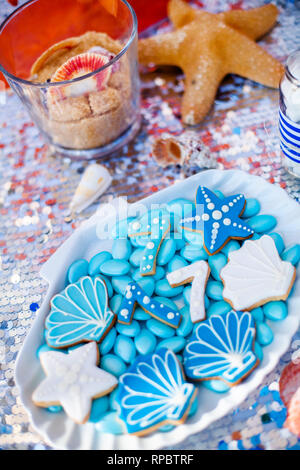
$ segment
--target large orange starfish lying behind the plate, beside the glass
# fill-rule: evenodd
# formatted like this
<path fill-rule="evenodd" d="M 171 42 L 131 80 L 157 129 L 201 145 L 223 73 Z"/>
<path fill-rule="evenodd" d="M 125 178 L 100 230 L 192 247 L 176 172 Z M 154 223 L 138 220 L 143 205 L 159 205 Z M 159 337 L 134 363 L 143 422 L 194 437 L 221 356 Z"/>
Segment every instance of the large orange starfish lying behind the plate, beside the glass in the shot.
<path fill-rule="evenodd" d="M 170 0 L 168 15 L 175 30 L 141 39 L 139 60 L 145 65 L 176 65 L 184 71 L 185 124 L 202 121 L 229 73 L 278 88 L 283 65 L 255 43 L 276 23 L 275 5 L 212 14 L 183 0 Z"/>

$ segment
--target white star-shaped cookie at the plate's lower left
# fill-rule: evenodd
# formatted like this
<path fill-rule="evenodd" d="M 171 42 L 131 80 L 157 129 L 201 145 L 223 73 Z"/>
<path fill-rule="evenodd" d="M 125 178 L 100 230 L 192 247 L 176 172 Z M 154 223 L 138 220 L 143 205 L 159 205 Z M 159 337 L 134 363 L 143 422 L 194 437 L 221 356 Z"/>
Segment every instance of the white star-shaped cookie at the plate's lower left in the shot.
<path fill-rule="evenodd" d="M 87 421 L 92 399 L 107 395 L 118 384 L 114 375 L 99 369 L 98 347 L 93 341 L 68 354 L 43 352 L 40 356 L 46 378 L 32 395 L 37 406 L 61 405 L 76 423 Z"/>

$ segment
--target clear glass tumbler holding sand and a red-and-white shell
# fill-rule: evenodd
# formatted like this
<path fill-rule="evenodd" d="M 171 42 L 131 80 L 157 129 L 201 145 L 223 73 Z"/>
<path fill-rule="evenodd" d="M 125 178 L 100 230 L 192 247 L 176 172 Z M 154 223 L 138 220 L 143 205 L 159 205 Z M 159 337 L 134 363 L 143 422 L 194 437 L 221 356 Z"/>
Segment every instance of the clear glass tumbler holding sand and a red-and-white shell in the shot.
<path fill-rule="evenodd" d="M 139 129 L 137 19 L 126 0 L 25 3 L 0 27 L 0 71 L 57 155 L 99 158 Z"/>

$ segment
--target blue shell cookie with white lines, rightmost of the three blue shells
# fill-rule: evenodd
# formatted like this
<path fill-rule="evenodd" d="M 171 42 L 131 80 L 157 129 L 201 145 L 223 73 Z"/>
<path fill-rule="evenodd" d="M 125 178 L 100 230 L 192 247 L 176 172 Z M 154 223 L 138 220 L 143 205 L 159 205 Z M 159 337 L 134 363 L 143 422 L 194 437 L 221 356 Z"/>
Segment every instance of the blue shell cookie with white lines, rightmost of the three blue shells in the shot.
<path fill-rule="evenodd" d="M 195 380 L 222 379 L 232 386 L 257 365 L 255 324 L 249 312 L 231 310 L 201 322 L 184 351 L 184 370 Z"/>

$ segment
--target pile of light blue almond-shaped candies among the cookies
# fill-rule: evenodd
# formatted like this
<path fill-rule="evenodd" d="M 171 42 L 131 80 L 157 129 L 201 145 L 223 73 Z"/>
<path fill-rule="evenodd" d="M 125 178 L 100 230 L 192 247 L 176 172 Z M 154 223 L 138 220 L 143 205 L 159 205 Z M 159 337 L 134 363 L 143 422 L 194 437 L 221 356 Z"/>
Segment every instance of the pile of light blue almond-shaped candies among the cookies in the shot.
<path fill-rule="evenodd" d="M 223 198 L 220 191 L 214 191 L 219 198 Z M 183 230 L 182 237 L 175 236 L 178 232 L 179 220 L 193 209 L 193 202 L 179 198 L 167 203 L 166 208 L 171 214 L 171 233 L 162 241 L 156 261 L 156 272 L 151 276 L 141 276 L 140 263 L 144 246 L 138 238 L 127 237 L 127 228 L 133 218 L 119 221 L 112 230 L 114 239 L 111 253 L 102 251 L 90 261 L 79 259 L 73 262 L 67 271 L 66 285 L 77 282 L 83 276 L 100 276 L 105 281 L 109 296 L 110 309 L 118 314 L 127 285 L 132 281 L 139 283 L 149 297 L 165 304 L 182 315 L 180 326 L 177 329 L 158 321 L 137 306 L 130 325 L 116 323 L 99 344 L 99 367 L 116 377 L 120 377 L 138 355 L 149 354 L 160 347 L 171 349 L 182 361 L 182 353 L 187 339 L 193 334 L 195 325 L 191 322 L 189 302 L 191 285 L 171 287 L 166 275 L 179 268 L 187 266 L 197 260 L 206 260 L 211 272 L 205 292 L 206 317 L 213 314 L 226 314 L 231 306 L 223 299 L 223 284 L 220 271 L 227 263 L 228 254 L 241 247 L 242 242 L 229 241 L 220 252 L 208 256 L 203 248 L 202 237 Z M 242 215 L 247 224 L 255 232 L 252 239 L 260 238 L 264 234 L 270 235 L 277 247 L 278 253 L 284 261 L 294 266 L 300 260 L 300 245 L 285 247 L 281 235 L 274 232 L 277 225 L 275 217 L 259 214 L 260 203 L 257 199 L 249 198 Z M 292 289 L 293 291 L 293 289 Z M 292 292 L 290 293 L 292 295 Z M 256 324 L 255 353 L 262 360 L 263 348 L 273 340 L 272 322 L 283 320 L 287 314 L 287 304 L 284 301 L 272 301 L 263 307 L 255 308 L 251 314 Z M 73 346 L 77 347 L 77 346 Z M 69 348 L 69 350 L 72 348 Z M 37 351 L 37 356 L 51 348 L 44 343 Z M 67 350 L 65 350 L 67 351 Z M 218 393 L 228 391 L 229 387 L 221 380 L 207 380 L 200 386 L 208 387 Z M 96 429 L 101 432 L 122 434 L 124 428 L 118 419 L 116 395 L 118 387 L 107 396 L 93 400 L 89 421 L 95 423 Z M 197 411 L 198 401 L 194 400 L 189 416 Z M 48 408 L 49 412 L 61 412 L 60 406 Z M 168 431 L 172 426 L 164 426 L 160 430 Z"/>

